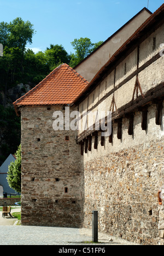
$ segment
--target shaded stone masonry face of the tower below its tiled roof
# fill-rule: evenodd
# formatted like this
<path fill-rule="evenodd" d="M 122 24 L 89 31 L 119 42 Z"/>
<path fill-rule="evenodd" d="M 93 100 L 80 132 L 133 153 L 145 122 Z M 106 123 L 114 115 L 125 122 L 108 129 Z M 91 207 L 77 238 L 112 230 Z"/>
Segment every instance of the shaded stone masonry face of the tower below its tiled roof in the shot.
<path fill-rule="evenodd" d="M 81 226 L 80 146 L 75 131 L 52 129 L 55 110 L 64 113 L 62 106 L 21 109 L 22 225 Z"/>

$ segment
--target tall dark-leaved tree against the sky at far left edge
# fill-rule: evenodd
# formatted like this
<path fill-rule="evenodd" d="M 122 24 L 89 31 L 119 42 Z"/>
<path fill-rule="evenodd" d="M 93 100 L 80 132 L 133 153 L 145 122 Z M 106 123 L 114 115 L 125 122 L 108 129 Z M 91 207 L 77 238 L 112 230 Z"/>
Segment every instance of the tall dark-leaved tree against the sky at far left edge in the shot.
<path fill-rule="evenodd" d="M 16 18 L 9 24 L 0 23 L 0 43 L 4 48 L 3 57 L 0 58 L 0 89 L 3 89 L 5 98 L 10 86 L 23 82 L 25 48 L 27 43 L 32 43 L 33 34 L 30 21 Z"/>

